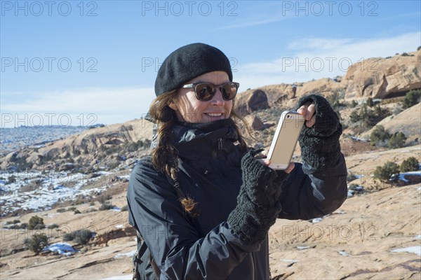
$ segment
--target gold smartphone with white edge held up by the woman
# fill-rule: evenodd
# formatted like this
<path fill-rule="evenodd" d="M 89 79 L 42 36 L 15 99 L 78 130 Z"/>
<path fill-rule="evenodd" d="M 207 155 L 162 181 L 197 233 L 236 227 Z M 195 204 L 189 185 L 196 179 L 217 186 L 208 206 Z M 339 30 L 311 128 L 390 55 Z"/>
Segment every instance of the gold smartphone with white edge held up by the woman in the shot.
<path fill-rule="evenodd" d="M 305 119 L 295 111 L 283 111 L 267 158 L 272 169 L 285 170 L 297 146 L 298 137 Z"/>

